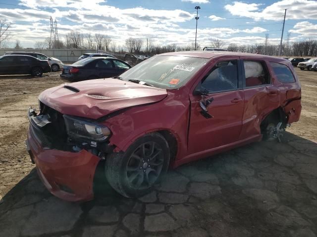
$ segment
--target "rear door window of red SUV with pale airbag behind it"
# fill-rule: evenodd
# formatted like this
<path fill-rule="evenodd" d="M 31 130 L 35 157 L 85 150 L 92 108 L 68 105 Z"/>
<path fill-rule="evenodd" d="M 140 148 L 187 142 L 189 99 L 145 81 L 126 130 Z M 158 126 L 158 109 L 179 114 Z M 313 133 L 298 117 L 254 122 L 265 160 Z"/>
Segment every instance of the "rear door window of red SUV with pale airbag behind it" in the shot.
<path fill-rule="evenodd" d="M 246 87 L 260 86 L 270 83 L 270 76 L 264 62 L 244 60 Z"/>

